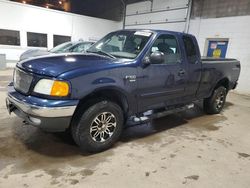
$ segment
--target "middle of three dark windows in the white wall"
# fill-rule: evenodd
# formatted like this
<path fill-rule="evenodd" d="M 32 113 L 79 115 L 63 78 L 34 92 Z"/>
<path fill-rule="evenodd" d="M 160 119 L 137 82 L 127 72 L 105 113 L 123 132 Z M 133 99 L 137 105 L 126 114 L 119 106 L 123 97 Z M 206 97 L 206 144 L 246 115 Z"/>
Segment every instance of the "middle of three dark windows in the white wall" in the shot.
<path fill-rule="evenodd" d="M 47 48 L 47 34 L 27 32 L 27 43 L 28 46 Z"/>

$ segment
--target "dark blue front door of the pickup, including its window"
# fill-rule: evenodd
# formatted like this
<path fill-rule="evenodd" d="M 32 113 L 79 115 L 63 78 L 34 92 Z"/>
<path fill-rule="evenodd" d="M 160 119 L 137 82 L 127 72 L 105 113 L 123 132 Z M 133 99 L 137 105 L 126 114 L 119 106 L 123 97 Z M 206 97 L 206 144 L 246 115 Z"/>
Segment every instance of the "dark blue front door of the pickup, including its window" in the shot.
<path fill-rule="evenodd" d="M 138 70 L 138 111 L 162 108 L 182 103 L 186 87 L 186 67 L 181 58 L 178 40 L 174 35 L 162 34 L 153 43 L 151 53 L 164 53 L 164 62 L 151 62 Z"/>

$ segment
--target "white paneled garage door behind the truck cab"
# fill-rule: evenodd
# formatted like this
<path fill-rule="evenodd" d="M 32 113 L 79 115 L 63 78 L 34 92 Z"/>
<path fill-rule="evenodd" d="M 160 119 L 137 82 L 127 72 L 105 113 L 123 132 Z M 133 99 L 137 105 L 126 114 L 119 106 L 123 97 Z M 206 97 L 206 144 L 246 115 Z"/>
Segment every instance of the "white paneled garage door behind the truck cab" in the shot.
<path fill-rule="evenodd" d="M 190 0 L 152 0 L 126 7 L 125 28 L 185 31 Z"/>

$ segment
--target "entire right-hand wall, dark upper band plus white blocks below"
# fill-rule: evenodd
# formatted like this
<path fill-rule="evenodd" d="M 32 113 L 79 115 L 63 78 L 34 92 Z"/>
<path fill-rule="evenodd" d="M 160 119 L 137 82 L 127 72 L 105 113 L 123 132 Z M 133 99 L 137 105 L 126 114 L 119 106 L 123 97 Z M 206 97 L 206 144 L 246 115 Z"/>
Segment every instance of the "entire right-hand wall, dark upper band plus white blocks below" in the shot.
<path fill-rule="evenodd" d="M 189 33 L 206 55 L 207 38 L 228 38 L 226 57 L 241 61 L 237 92 L 250 94 L 250 1 L 194 0 Z"/>

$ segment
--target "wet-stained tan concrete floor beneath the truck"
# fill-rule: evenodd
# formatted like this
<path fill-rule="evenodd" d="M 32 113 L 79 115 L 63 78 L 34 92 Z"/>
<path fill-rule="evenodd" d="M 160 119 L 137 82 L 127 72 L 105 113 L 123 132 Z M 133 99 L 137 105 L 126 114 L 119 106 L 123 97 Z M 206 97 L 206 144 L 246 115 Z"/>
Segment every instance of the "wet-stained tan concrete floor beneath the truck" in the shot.
<path fill-rule="evenodd" d="M 230 93 L 221 115 L 199 106 L 127 128 L 114 148 L 80 153 L 5 109 L 0 72 L 0 187 L 232 187 L 250 185 L 250 97 Z"/>

